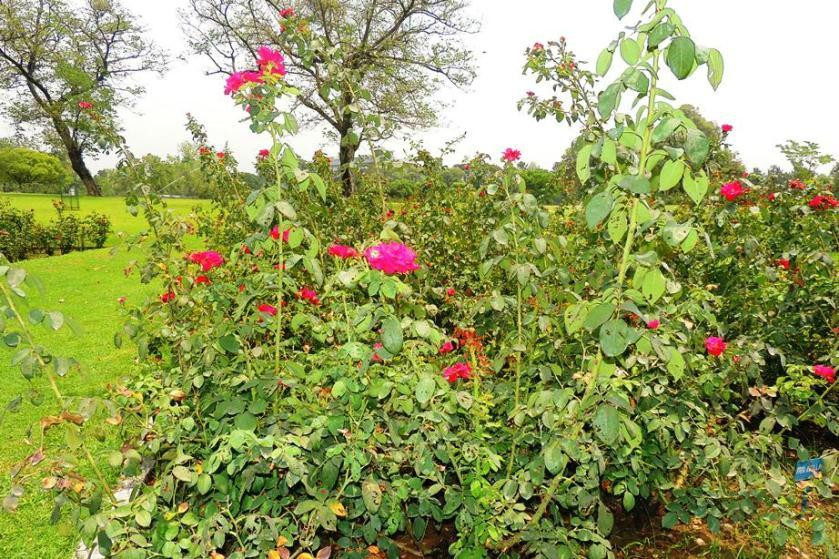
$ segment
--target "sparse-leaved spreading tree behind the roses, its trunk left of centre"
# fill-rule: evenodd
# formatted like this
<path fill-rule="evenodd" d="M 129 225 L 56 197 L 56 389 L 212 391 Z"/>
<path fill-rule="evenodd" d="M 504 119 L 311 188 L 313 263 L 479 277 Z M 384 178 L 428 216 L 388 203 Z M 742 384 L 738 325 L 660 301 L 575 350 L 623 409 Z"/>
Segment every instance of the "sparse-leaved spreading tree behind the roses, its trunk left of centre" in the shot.
<path fill-rule="evenodd" d="M 252 66 L 263 45 L 282 51 L 309 123 L 326 125 L 339 141 L 346 195 L 354 189 L 351 165 L 361 142 L 434 124 L 434 93 L 444 82 L 462 87 L 475 77 L 472 53 L 458 41 L 477 29 L 465 15 L 467 0 L 189 3 L 184 26 L 212 73 Z"/>

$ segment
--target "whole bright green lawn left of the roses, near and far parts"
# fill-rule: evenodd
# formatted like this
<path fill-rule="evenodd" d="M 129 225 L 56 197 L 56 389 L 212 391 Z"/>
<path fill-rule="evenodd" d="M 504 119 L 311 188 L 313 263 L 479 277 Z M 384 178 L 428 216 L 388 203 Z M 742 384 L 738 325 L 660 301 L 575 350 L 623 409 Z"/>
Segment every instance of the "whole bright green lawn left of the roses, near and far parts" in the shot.
<path fill-rule="evenodd" d="M 47 222 L 55 217 L 54 196 L 38 194 L 3 194 L 3 198 L 17 207 L 32 209 L 36 219 Z M 167 201 L 177 213 L 186 214 L 205 201 L 171 199 Z M 125 201 L 119 197 L 83 197 L 80 215 L 89 212 L 107 214 L 113 223 L 114 235 L 109 245 L 118 245 L 117 232 L 134 234 L 145 229 L 142 217 L 131 216 Z M 156 294 L 156 287 L 141 285 L 137 276 L 125 276 L 123 270 L 130 261 L 141 258 L 136 251 L 118 249 L 73 252 L 63 256 L 36 258 L 15 264 L 27 270 L 43 283 L 43 292 L 28 288 L 28 304 L 43 310 L 58 310 L 73 318 L 82 328 L 74 335 L 68 328 L 58 333 L 40 326 L 34 328 L 37 341 L 57 355 L 74 357 L 81 363 L 81 371 L 71 372 L 60 380 L 67 396 L 102 395 L 104 386 L 132 373 L 134 350 L 126 344 L 121 350 L 113 345 L 113 335 L 121 328 L 124 312 L 117 299 L 127 297 L 128 304 L 140 304 Z M 30 426 L 45 416 L 54 414 L 58 405 L 43 378 L 31 383 L 19 369 L 11 365 L 14 350 L 0 348 L 0 409 L 16 396 L 34 389 L 45 396 L 39 406 L 24 398 L 20 411 L 6 414 L 0 425 L 0 499 L 10 488 L 9 470 L 32 454 L 24 438 Z M 95 447 L 94 447 L 95 448 Z M 99 447 L 101 450 L 103 447 Z M 47 449 L 47 452 L 49 449 Z M 102 459 L 104 462 L 104 458 Z M 78 543 L 78 536 L 69 522 L 56 528 L 49 524 L 52 497 L 38 484 L 30 484 L 15 513 L 0 508 L 0 558 L 68 559 Z"/>

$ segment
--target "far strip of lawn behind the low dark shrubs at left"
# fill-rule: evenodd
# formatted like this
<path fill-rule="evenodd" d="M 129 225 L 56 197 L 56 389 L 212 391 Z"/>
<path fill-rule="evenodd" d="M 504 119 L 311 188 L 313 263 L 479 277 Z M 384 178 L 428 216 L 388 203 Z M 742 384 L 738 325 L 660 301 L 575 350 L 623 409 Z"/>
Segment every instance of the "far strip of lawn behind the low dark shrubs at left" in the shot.
<path fill-rule="evenodd" d="M 53 201 L 60 199 L 59 196 L 51 194 L 18 194 L 8 192 L 0 194 L 0 198 L 8 200 L 17 208 L 34 210 L 35 219 L 42 223 L 47 223 L 55 219 L 56 212 L 52 204 Z M 166 205 L 177 214 L 187 214 L 195 206 L 204 206 L 208 203 L 207 200 L 196 200 L 193 198 L 166 199 Z M 146 222 L 142 216 L 134 217 L 128 213 L 125 207 L 125 199 L 121 196 L 102 196 L 101 198 L 82 196 L 79 202 L 79 210 L 74 213 L 77 213 L 79 217 L 84 217 L 91 212 L 103 213 L 111 218 L 113 233 L 108 238 L 107 246 L 118 243 L 119 237 L 117 233 L 122 232 L 131 235 L 139 233 L 146 228 Z"/>

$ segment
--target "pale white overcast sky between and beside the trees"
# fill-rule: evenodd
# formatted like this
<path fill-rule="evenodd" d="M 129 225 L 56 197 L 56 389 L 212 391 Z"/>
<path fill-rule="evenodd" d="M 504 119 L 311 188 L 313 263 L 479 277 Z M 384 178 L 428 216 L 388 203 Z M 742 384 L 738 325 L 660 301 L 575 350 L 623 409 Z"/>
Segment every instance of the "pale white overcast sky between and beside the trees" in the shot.
<path fill-rule="evenodd" d="M 184 115 L 191 112 L 207 125 L 212 143 L 228 143 L 240 161 L 251 161 L 267 140 L 239 122 L 240 109 L 223 95 L 223 77 L 207 76 L 207 61 L 188 52 L 176 15 L 184 0 L 123 3 L 141 16 L 153 39 L 173 55 L 167 75 L 144 79 L 146 94 L 124 117 L 126 137 L 135 153 L 173 153 L 188 139 Z M 775 146 L 788 138 L 813 140 L 839 155 L 839 2 L 672 0 L 671 4 L 699 44 L 722 51 L 726 75 L 717 92 L 705 80 L 704 69 L 665 88 L 679 103 L 697 105 L 707 118 L 732 124 L 734 146 L 748 166 L 783 163 Z M 522 151 L 525 161 L 550 166 L 575 131 L 552 121 L 537 123 L 516 109 L 525 91 L 539 91 L 522 75 L 523 51 L 535 41 L 564 35 L 581 60 L 595 60 L 620 30 L 611 6 L 611 0 L 472 0 L 473 15 L 482 29 L 467 42 L 477 56 L 478 78 L 468 91 L 444 93 L 450 106 L 441 113 L 442 126 L 413 136 L 436 149 L 465 132 L 449 162 L 477 151 L 498 155 L 511 146 Z M 178 55 L 186 56 L 186 61 L 174 59 Z M 672 79 L 669 73 L 668 78 Z M 318 148 L 335 152 L 318 131 L 302 133 L 293 143 L 304 157 Z M 389 147 L 403 153 L 401 144 Z M 112 163 L 103 158 L 91 166 L 98 169 Z"/>

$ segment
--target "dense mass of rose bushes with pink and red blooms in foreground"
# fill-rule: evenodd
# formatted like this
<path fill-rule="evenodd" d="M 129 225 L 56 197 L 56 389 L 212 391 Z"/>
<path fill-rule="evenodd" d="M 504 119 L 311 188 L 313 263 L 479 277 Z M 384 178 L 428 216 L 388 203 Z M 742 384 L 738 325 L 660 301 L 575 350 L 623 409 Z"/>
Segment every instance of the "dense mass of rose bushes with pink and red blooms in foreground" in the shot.
<path fill-rule="evenodd" d="M 717 185 L 722 140 L 663 83 L 704 66 L 716 86 L 722 56 L 665 0 L 638 12 L 594 72 L 564 40 L 528 50 L 526 70 L 571 97 L 528 95 L 533 114 L 585 126 L 587 199 L 553 212 L 519 147 L 454 185 L 422 154 L 423 188 L 398 208 L 376 165 L 336 197 L 328 163 L 286 142 L 297 92 L 259 49 L 225 85 L 272 139 L 258 184 L 199 142 L 217 213 L 196 228 L 138 169 L 136 269 L 160 293 L 116 338 L 143 371 L 108 408 L 136 437 L 107 458 L 148 473 L 103 508 L 101 484 L 55 464 L 49 489 L 90 505 L 83 537 L 123 559 L 397 557 L 424 540 L 463 558 L 602 559 L 634 511 L 718 530 L 766 510 L 783 545 L 805 523 L 790 453 L 817 450 L 797 430 L 835 432 L 837 210 L 826 191 Z M 305 21 L 282 18 L 316 56 Z M 625 67 L 595 94 L 616 55 Z M 188 250 L 195 231 L 205 246 Z M 816 495 L 832 493 L 828 468 Z M 829 545 L 824 520 L 811 528 Z"/>

